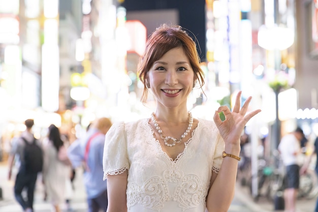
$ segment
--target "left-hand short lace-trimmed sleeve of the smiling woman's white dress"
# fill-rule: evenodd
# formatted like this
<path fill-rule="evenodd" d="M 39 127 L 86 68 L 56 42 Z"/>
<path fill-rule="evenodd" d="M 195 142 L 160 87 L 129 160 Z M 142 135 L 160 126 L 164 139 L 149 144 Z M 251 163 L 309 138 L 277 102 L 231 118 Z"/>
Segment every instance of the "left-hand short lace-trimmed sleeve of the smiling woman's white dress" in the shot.
<path fill-rule="evenodd" d="M 107 132 L 103 154 L 104 180 L 109 174 L 121 174 L 129 169 L 126 138 L 123 122 L 113 124 Z"/>

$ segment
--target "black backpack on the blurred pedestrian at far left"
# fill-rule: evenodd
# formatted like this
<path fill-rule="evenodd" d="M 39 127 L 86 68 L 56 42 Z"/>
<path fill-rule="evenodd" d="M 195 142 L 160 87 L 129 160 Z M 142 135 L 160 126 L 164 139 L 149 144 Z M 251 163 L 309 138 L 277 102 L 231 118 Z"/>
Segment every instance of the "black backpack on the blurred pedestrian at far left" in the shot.
<path fill-rule="evenodd" d="M 24 147 L 24 168 L 27 172 L 38 173 L 43 168 L 43 150 L 37 145 L 36 138 L 29 143 L 25 138 L 21 137 L 25 143 Z"/>

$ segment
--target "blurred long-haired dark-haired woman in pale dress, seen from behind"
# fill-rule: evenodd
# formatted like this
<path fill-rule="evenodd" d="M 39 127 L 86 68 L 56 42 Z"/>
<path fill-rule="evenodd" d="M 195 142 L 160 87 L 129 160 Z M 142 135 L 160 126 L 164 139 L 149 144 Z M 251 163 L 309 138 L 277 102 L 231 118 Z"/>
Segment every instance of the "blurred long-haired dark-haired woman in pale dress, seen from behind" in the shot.
<path fill-rule="evenodd" d="M 44 148 L 43 180 L 55 212 L 60 212 L 59 205 L 65 202 L 66 183 L 70 180 L 71 173 L 70 165 L 59 129 L 55 125 L 50 125 Z"/>

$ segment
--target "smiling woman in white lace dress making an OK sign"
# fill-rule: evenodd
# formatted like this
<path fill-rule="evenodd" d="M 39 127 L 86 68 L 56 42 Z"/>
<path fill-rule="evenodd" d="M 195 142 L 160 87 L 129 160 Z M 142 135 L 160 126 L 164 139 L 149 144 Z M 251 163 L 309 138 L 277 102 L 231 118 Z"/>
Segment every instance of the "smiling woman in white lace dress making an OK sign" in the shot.
<path fill-rule="evenodd" d="M 240 109 L 239 92 L 233 112 L 221 106 L 214 122 L 193 118 L 187 98 L 204 76 L 196 44 L 180 26 L 156 29 L 138 71 L 143 101 L 150 90 L 156 109 L 150 118 L 114 124 L 106 135 L 107 211 L 228 211 L 240 135 L 260 110 L 245 115 L 251 98 Z"/>

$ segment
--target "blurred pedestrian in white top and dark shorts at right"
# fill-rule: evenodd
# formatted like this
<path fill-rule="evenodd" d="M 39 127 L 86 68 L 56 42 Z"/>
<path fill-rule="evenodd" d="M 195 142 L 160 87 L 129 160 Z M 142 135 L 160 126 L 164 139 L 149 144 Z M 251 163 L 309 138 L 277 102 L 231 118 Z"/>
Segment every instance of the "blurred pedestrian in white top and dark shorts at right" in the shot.
<path fill-rule="evenodd" d="M 285 166 L 284 177 L 284 205 L 285 211 L 296 211 L 296 199 L 299 189 L 299 156 L 301 153 L 300 141 L 304 133 L 301 128 L 282 137 L 278 150 Z"/>

